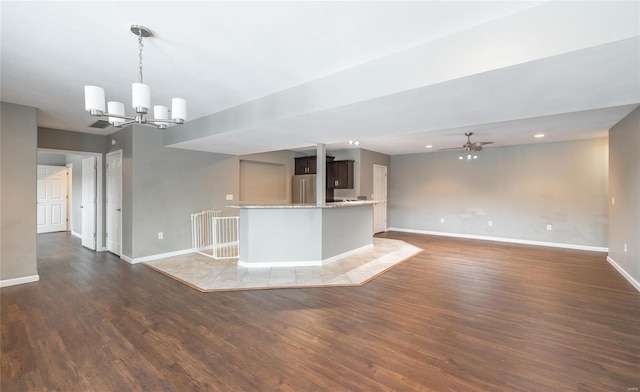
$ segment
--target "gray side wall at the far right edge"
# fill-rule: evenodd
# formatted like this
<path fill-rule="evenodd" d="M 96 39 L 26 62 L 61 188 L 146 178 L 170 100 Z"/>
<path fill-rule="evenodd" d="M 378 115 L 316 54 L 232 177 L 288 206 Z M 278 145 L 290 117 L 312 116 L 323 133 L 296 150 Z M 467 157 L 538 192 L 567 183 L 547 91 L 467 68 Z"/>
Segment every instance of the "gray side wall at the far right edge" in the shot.
<path fill-rule="evenodd" d="M 639 152 L 640 108 L 637 108 L 609 131 L 608 203 L 609 257 L 636 282 L 640 282 Z"/>

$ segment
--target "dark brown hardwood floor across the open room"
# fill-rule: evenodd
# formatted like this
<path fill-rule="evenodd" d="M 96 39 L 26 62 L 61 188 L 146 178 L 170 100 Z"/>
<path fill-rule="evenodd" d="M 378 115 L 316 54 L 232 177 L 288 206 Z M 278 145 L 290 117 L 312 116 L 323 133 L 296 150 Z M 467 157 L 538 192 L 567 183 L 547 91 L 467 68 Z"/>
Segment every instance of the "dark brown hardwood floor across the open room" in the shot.
<path fill-rule="evenodd" d="M 603 253 L 387 233 L 361 287 L 200 293 L 38 237 L 1 294 L 2 391 L 638 391 L 640 293 Z"/>

